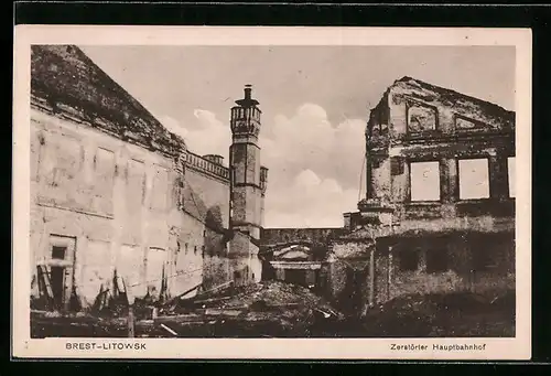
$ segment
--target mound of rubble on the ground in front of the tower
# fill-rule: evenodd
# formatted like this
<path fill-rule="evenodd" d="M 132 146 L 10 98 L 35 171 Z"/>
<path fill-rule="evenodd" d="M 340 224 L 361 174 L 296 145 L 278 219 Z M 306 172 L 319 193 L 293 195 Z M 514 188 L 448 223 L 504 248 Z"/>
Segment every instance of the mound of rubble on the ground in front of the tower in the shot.
<path fill-rule="evenodd" d="M 279 281 L 227 288 L 159 312 L 156 321 L 177 327 L 179 336 L 312 336 L 344 318 L 309 289 Z"/>

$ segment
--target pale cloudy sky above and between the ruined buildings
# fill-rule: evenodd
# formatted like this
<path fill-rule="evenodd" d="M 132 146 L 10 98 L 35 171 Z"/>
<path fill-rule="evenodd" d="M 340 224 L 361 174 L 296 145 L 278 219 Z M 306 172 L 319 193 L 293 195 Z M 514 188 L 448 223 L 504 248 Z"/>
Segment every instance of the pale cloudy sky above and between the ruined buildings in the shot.
<path fill-rule="evenodd" d="M 338 227 L 356 210 L 369 109 L 411 76 L 514 110 L 504 46 L 83 46 L 199 154 L 228 160 L 229 109 L 245 84 L 262 109 L 266 227 Z M 361 184 L 361 194 L 365 184 Z"/>

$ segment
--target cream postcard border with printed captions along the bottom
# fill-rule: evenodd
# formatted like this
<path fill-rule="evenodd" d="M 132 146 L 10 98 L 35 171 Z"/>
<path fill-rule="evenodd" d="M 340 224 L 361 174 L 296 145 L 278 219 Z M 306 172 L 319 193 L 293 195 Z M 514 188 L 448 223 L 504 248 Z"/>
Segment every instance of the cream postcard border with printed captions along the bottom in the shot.
<path fill-rule="evenodd" d="M 517 163 L 521 165 L 520 169 L 517 169 L 516 198 L 516 337 L 30 339 L 29 123 L 31 44 L 516 46 L 516 159 Z M 529 29 L 15 26 L 12 166 L 12 356 L 67 359 L 529 359 L 531 356 L 531 30 Z M 392 350 L 393 344 L 425 345 L 426 350 Z M 434 345 L 455 345 L 455 347 L 434 350 Z M 480 350 L 461 351 L 458 350 L 461 345 L 477 345 Z M 120 350 L 119 347 L 132 348 Z"/>

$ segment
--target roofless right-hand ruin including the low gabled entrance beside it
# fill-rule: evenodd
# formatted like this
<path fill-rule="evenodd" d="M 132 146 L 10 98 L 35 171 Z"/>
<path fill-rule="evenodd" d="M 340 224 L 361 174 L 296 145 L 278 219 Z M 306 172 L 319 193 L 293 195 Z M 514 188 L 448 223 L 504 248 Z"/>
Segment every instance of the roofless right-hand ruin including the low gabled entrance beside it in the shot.
<path fill-rule="evenodd" d="M 320 270 L 358 314 L 404 293 L 515 288 L 515 112 L 403 77 L 370 112 L 366 161 L 366 197 L 323 230 L 323 256 L 301 241 L 312 229 L 264 229 L 274 278 Z"/>

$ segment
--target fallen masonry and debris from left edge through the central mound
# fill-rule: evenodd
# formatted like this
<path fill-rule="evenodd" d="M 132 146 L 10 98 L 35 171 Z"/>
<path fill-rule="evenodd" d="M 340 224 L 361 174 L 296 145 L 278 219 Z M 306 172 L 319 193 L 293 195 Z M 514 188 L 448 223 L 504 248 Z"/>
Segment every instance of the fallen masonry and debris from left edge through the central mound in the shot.
<path fill-rule="evenodd" d="M 191 299 L 136 301 L 111 312 L 33 310 L 32 337 L 303 337 L 323 336 L 343 319 L 309 289 L 266 281 Z"/>

